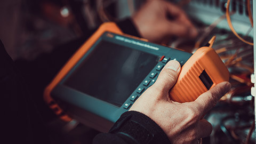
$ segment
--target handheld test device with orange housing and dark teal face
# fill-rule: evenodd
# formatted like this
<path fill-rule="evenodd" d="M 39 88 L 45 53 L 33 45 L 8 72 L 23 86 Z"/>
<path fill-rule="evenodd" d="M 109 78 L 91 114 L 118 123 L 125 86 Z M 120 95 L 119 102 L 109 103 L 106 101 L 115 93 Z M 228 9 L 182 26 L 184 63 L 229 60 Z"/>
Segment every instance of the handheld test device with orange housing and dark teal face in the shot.
<path fill-rule="evenodd" d="M 64 121 L 74 118 L 107 132 L 154 84 L 169 60 L 182 66 L 170 90 L 174 101 L 193 101 L 229 79 L 227 68 L 210 47 L 191 54 L 125 35 L 115 23 L 107 22 L 59 71 L 46 87 L 44 99 Z"/>

